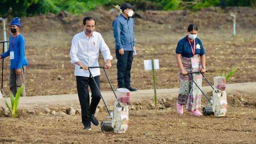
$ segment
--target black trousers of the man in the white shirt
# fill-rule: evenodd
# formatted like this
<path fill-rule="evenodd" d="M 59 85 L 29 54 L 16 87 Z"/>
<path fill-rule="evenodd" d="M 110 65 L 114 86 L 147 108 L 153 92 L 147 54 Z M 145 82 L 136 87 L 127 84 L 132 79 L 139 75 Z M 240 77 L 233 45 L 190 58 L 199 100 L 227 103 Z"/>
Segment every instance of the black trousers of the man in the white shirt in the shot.
<path fill-rule="evenodd" d="M 100 89 L 100 76 L 95 76 L 94 79 Z M 90 121 L 90 116 L 95 113 L 100 102 L 100 92 L 91 77 L 76 76 L 76 85 L 82 111 L 82 123 L 85 126 L 85 122 Z M 88 85 L 92 92 L 91 104 Z"/>

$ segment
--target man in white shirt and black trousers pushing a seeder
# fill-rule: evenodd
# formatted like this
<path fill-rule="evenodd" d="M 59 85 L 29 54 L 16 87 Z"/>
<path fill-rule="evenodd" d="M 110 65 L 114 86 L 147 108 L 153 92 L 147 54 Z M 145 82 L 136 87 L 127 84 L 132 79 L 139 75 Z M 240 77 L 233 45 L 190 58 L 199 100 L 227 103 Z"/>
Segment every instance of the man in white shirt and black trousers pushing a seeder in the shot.
<path fill-rule="evenodd" d="M 99 51 L 101 51 L 106 62 L 104 68 L 109 69 L 111 67 L 110 60 L 113 59 L 101 34 L 94 32 L 95 25 L 96 21 L 93 17 L 85 17 L 83 20 L 84 30 L 73 37 L 70 48 L 71 63 L 75 65 L 74 75 L 76 76 L 78 98 L 82 110 L 83 130 L 91 130 L 91 123 L 95 126 L 99 125 L 94 113 L 100 102 L 100 92 L 97 89 L 97 86 L 100 88 L 100 68 L 90 69 L 97 83 L 96 86 L 90 76 L 88 67 L 99 66 Z M 90 86 L 92 92 L 91 103 L 88 86 Z"/>

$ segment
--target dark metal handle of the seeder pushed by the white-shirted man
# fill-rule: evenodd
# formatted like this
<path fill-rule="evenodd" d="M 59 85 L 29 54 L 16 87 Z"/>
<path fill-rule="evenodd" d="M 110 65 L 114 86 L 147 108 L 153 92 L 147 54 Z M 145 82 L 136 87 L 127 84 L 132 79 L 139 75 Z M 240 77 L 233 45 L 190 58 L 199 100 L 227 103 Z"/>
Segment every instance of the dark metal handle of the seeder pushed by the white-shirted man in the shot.
<path fill-rule="evenodd" d="M 111 82 L 110 82 L 110 80 L 109 80 L 109 77 L 108 77 L 108 74 L 106 73 L 105 67 L 104 67 L 104 66 L 89 66 L 89 67 L 88 67 L 88 70 L 89 70 L 89 72 L 90 72 L 90 76 L 92 77 L 92 80 L 93 80 L 94 84 L 96 84 L 96 87 L 97 87 L 98 91 L 100 92 L 100 89 L 99 89 L 99 87 L 98 87 L 98 85 L 97 85 L 97 83 L 96 83 L 94 77 L 92 76 L 92 72 L 91 72 L 91 70 L 90 70 L 91 68 L 102 68 L 102 69 L 104 70 L 104 73 L 105 73 L 105 75 L 106 75 L 106 77 L 107 77 L 107 79 L 108 79 L 108 83 L 110 84 L 110 87 L 111 87 L 112 91 L 114 92 L 114 95 L 115 95 L 115 97 L 116 97 L 116 99 L 117 99 L 115 90 L 114 90 L 114 88 L 113 88 L 113 86 L 112 86 L 112 84 L 111 84 Z M 80 67 L 80 69 L 82 69 L 82 67 Z M 100 92 L 100 97 L 101 97 L 101 99 L 102 99 L 104 105 L 106 106 L 106 109 L 107 109 L 108 114 L 109 114 L 109 116 L 110 116 L 110 111 L 108 110 L 108 106 L 107 106 L 107 104 L 106 104 L 106 102 L 105 102 L 105 100 L 104 100 L 104 98 L 103 98 L 101 92 Z M 121 104 L 120 104 L 119 102 L 118 102 L 118 106 L 121 107 Z"/>

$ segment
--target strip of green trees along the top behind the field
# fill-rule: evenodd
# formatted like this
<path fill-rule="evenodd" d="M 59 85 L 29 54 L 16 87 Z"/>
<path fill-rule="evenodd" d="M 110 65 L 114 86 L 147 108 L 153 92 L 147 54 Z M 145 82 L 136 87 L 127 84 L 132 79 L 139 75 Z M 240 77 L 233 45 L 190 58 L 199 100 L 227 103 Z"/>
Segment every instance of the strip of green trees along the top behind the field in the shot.
<path fill-rule="evenodd" d="M 1 0 L 0 17 L 34 16 L 38 14 L 67 11 L 71 14 L 82 14 L 104 7 L 107 10 L 114 5 L 129 2 L 136 10 L 200 10 L 211 6 L 256 6 L 256 0 Z"/>

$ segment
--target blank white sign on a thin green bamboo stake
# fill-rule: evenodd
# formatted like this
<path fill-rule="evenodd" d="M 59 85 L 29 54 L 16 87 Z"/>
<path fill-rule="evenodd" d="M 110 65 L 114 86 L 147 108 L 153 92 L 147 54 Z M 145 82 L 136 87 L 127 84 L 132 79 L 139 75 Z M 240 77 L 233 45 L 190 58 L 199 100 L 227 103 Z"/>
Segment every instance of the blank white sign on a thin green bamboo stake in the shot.
<path fill-rule="evenodd" d="M 152 70 L 153 72 L 153 81 L 154 81 L 154 93 L 155 93 L 155 108 L 157 104 L 157 97 L 156 97 L 156 73 L 155 69 L 159 69 L 159 60 L 158 59 L 152 59 L 152 60 L 144 60 L 144 69 L 145 70 Z"/>

